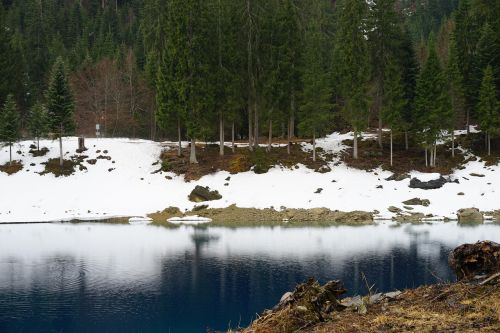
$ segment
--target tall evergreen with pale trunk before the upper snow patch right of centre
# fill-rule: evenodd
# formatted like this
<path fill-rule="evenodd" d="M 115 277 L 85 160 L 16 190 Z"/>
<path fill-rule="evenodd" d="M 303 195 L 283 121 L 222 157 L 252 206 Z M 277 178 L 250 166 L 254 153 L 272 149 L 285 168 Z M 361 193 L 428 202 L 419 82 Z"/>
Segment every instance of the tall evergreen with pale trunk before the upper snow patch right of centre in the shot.
<path fill-rule="evenodd" d="M 336 79 L 343 98 L 342 111 L 354 132 L 353 157 L 358 158 L 358 135 L 367 126 L 367 81 L 369 58 L 367 52 L 366 9 L 364 0 L 341 0 L 337 3 Z"/>

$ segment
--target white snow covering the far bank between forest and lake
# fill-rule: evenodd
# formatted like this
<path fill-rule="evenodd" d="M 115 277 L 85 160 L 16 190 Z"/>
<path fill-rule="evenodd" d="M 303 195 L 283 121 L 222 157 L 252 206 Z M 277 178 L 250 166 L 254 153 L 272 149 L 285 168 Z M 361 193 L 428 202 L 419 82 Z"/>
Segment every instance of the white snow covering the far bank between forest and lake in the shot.
<path fill-rule="evenodd" d="M 338 153 L 351 134 L 334 133 L 318 140 L 318 147 Z M 115 216 L 141 216 L 169 206 L 190 210 L 195 206 L 188 194 L 196 185 L 209 186 L 222 199 L 209 202 L 213 208 L 236 204 L 239 207 L 279 209 L 327 207 L 341 211 L 380 211 L 379 217 L 392 217 L 387 208 L 403 208 L 402 201 L 418 197 L 429 199 L 428 207 L 414 206 L 415 210 L 439 217 L 453 218 L 461 208 L 480 210 L 500 208 L 500 167 L 485 167 L 483 162 L 469 162 L 463 170 L 451 176 L 457 183 L 447 183 L 441 189 L 421 190 L 408 187 L 409 179 L 387 181 L 390 172 L 371 172 L 349 168 L 343 163 L 331 163 L 331 172 L 317 173 L 299 165 L 290 170 L 279 166 L 266 174 L 244 172 L 230 175 L 221 171 L 198 181 L 185 182 L 172 173 L 153 173 L 160 166 L 153 165 L 166 143 L 131 139 L 86 139 L 89 148 L 84 155 L 94 159 L 109 155 L 111 160 L 98 159 L 95 165 L 83 162 L 88 170 L 76 171 L 69 177 L 41 176 L 40 163 L 58 156 L 58 141 L 43 140 L 41 147 L 50 152 L 43 157 L 32 157 L 23 141 L 13 147 L 14 159 L 22 160 L 24 168 L 8 176 L 0 172 L 0 222 L 36 222 L 70 219 L 102 219 Z M 64 139 L 66 157 L 75 154 L 77 138 Z M 303 149 L 310 149 L 303 144 Z M 100 153 L 97 151 L 100 150 Z M 104 154 L 103 151 L 108 153 Z M 18 154 L 17 151 L 22 153 Z M 8 161 L 8 147 L 0 149 L 0 165 Z M 114 162 L 114 163 L 113 163 Z M 34 166 L 30 164 L 34 163 Z M 111 170 L 112 169 L 112 170 Z M 110 171 L 111 170 L 111 171 Z M 472 177 L 471 173 L 484 177 Z M 420 180 L 438 178 L 438 174 L 411 172 Z M 167 179 L 166 176 L 172 177 Z M 229 181 L 225 179 L 231 177 Z M 227 186 L 224 184 L 228 183 Z M 382 188 L 380 188 L 380 185 Z M 379 187 L 379 188 L 377 188 Z M 314 193 L 322 188 L 321 193 Z M 457 193 L 463 192 L 463 196 Z"/>

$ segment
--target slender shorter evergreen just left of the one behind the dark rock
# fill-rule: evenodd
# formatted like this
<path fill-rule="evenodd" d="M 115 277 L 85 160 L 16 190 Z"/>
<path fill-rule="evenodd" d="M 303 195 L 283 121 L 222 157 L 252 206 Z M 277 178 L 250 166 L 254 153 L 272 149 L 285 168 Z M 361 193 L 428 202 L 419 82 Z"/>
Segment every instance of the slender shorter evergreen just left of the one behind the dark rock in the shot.
<path fill-rule="evenodd" d="M 393 131 L 404 127 L 403 111 L 407 106 L 405 91 L 401 79 L 401 69 L 394 62 L 389 62 L 385 68 L 384 96 L 381 117 L 391 131 L 390 156 L 393 160 Z"/>

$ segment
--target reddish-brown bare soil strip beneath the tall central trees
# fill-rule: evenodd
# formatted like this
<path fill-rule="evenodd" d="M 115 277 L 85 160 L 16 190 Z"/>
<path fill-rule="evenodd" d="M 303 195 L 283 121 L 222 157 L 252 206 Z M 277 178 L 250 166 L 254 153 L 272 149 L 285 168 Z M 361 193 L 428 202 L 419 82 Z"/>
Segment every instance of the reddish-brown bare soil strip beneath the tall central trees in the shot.
<path fill-rule="evenodd" d="M 233 153 L 231 148 L 225 147 L 224 156 L 219 156 L 218 145 L 197 145 L 196 157 L 198 164 L 189 163 L 189 148 L 182 150 L 182 156 L 177 156 L 177 149 L 165 150 L 161 155 L 162 171 L 174 172 L 184 175 L 187 181 L 198 180 L 201 177 L 219 170 L 229 171 L 232 174 L 249 171 L 253 168 L 255 173 L 265 173 L 274 165 L 292 168 L 302 163 L 311 169 L 326 171 L 326 162 L 320 158 L 312 160 L 312 154 L 302 151 L 297 140 L 292 144 L 291 154 L 288 155 L 286 147 L 273 147 L 268 153 L 265 148 L 250 151 L 248 148 L 236 148 Z"/>

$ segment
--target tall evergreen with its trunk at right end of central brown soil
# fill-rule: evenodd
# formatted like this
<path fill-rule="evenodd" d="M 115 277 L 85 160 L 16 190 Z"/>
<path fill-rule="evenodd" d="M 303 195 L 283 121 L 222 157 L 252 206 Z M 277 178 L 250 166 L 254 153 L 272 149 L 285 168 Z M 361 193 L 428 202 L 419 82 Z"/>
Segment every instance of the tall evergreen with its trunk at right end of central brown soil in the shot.
<path fill-rule="evenodd" d="M 305 33 L 304 68 L 302 75 L 303 94 L 300 106 L 299 129 L 312 136 L 313 161 L 316 161 L 316 136 L 323 134 L 332 120 L 332 88 L 328 59 L 323 56 L 326 44 L 323 32 L 321 1 L 311 1 L 312 12 Z"/>

